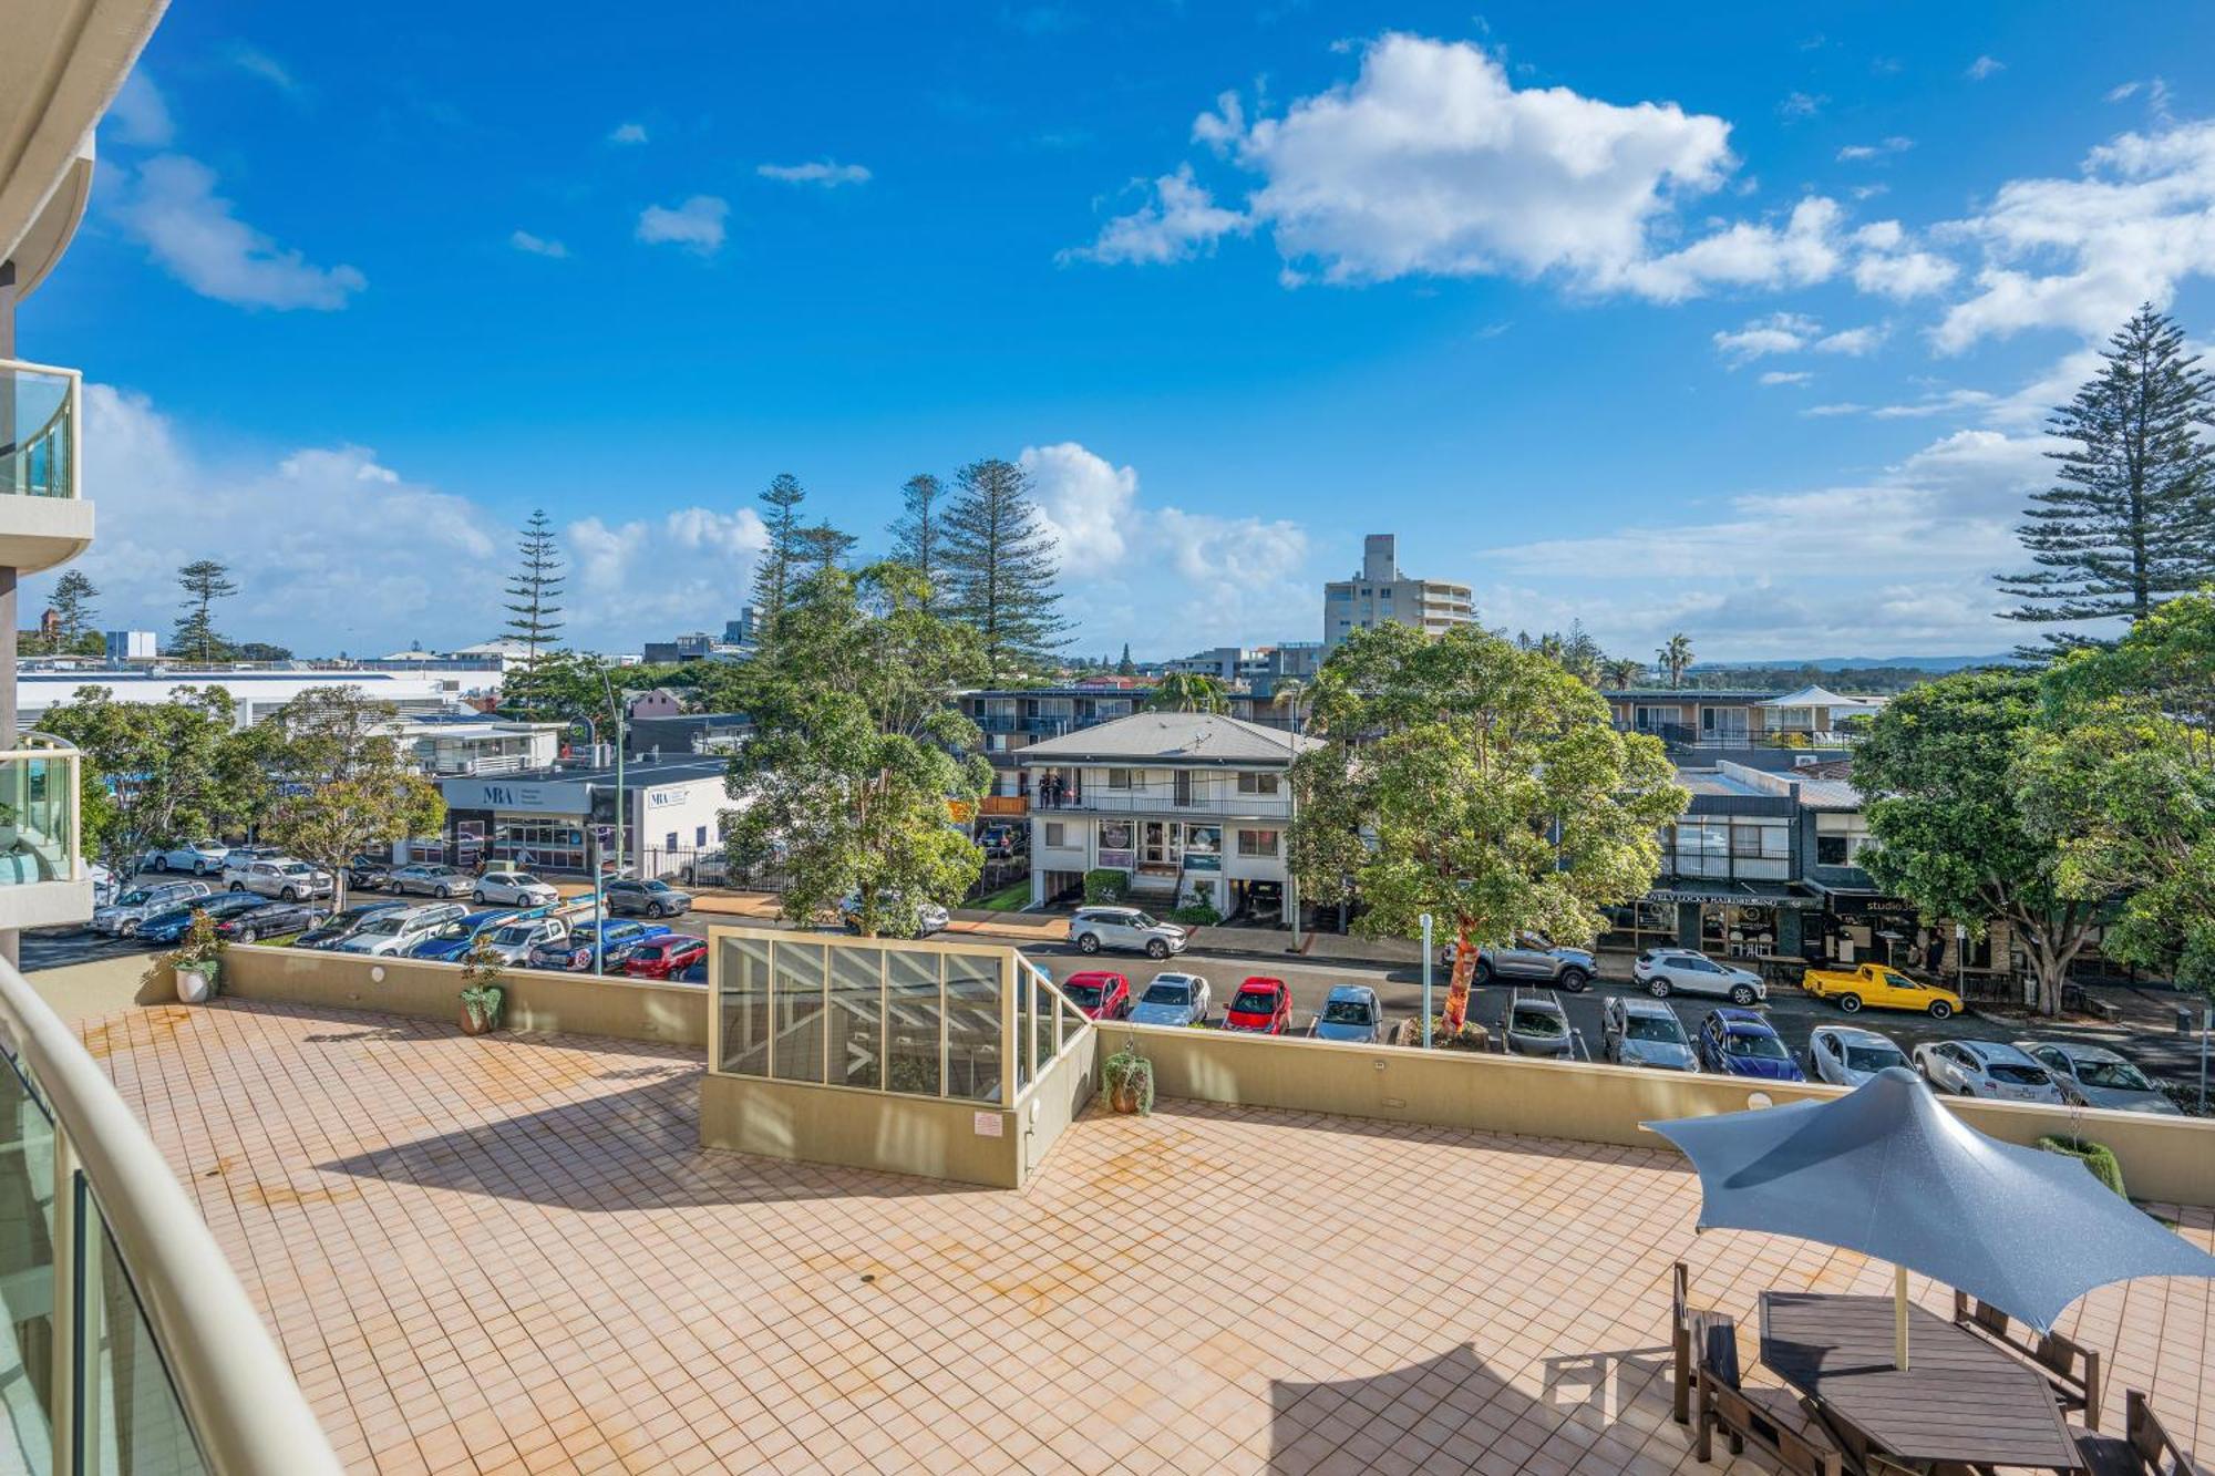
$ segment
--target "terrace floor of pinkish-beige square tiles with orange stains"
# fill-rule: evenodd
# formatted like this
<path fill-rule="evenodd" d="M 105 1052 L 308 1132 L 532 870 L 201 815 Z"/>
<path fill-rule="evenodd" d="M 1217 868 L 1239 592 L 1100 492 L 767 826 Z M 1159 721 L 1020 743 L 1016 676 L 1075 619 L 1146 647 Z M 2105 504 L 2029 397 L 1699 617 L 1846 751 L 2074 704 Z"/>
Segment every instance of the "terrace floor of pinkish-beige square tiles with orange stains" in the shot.
<path fill-rule="evenodd" d="M 1668 1418 L 1668 1263 L 1741 1325 L 1889 1288 L 1694 1241 L 1666 1152 L 1172 1101 L 1008 1195 L 702 1152 L 696 1057 L 631 1042 L 228 1002 L 84 1035 L 354 1469 L 1723 1469 Z M 2206 1283 L 2071 1321 L 2115 1427 L 2151 1387 L 2215 1445 Z"/>

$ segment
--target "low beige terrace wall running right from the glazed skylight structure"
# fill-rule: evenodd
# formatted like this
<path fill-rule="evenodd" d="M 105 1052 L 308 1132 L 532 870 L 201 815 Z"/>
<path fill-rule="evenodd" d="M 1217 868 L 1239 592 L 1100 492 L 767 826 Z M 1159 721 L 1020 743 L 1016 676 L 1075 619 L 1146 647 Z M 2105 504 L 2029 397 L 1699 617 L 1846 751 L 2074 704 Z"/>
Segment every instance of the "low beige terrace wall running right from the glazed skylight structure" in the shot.
<path fill-rule="evenodd" d="M 1340 1113 L 1389 1121 L 1568 1137 L 1588 1144 L 1663 1148 L 1641 1121 L 1737 1113 L 1754 1093 L 1770 1101 L 1836 1097 L 1836 1086 L 1790 1086 L 1679 1070 L 1533 1062 L 1462 1050 L 1395 1050 L 1311 1039 L 1227 1035 L 1161 1026 L 1116 1026 L 1154 1062 L 1154 1090 L 1234 1106 Z M 1105 1042 L 1099 1053 L 1110 1050 Z M 1991 1137 L 2031 1144 L 2069 1132 L 2102 1141 L 2122 1161 L 2137 1199 L 2215 1206 L 2215 1119 L 2142 1113 L 2067 1113 L 2000 1101 L 1945 1104 Z"/>

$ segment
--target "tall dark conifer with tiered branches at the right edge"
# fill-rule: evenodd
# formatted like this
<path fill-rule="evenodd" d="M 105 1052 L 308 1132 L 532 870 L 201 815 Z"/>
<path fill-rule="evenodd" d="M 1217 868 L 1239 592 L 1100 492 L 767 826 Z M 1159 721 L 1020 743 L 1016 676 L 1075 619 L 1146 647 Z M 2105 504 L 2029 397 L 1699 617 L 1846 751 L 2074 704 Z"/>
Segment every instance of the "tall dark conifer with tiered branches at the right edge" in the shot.
<path fill-rule="evenodd" d="M 2047 421 L 2069 450 L 2049 452 L 2056 485 L 2031 496 L 2016 530 L 2036 570 L 2000 581 L 2022 598 L 2002 612 L 2042 625 L 2144 621 L 2215 578 L 2215 379 L 2184 352 L 2173 319 L 2140 308 L 2102 350 L 2100 372 Z M 2025 656 L 2087 643 L 2047 634 Z"/>

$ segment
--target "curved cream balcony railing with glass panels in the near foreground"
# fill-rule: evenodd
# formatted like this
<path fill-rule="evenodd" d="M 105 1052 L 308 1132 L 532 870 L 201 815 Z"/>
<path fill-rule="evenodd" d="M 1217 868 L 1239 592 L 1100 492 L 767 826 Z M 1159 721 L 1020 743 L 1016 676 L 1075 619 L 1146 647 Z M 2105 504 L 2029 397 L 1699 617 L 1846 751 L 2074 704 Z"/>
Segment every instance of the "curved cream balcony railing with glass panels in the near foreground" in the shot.
<path fill-rule="evenodd" d="M 0 1467 L 339 1472 L 175 1170 L 4 962 L 0 1139 Z"/>

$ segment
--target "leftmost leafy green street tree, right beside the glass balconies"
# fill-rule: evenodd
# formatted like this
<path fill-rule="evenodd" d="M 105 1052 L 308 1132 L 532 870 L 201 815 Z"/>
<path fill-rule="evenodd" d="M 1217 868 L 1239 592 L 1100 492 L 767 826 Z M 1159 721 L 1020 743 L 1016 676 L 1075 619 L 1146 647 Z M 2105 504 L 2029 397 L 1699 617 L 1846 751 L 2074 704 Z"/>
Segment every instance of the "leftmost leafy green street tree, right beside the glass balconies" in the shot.
<path fill-rule="evenodd" d="M 86 849 L 126 875 L 155 849 L 237 833 L 270 800 L 266 736 L 239 731 L 222 687 L 177 687 L 166 703 L 117 703 L 80 687 L 40 731 L 82 754 Z"/>

